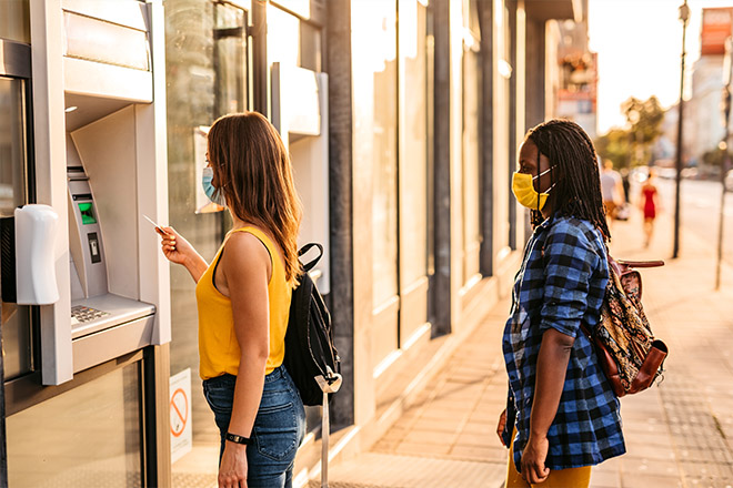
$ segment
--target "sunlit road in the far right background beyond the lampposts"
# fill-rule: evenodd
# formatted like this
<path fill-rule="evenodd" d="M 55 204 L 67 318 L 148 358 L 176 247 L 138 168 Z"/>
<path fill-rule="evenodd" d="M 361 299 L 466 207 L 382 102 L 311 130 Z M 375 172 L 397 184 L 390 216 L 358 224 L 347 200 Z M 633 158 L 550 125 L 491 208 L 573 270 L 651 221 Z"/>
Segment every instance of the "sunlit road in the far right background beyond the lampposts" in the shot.
<path fill-rule="evenodd" d="M 674 180 L 657 179 L 657 187 L 662 197 L 662 212 L 674 215 Z M 637 190 L 631 189 L 632 199 Z M 710 242 L 717 250 L 717 233 L 721 205 L 721 184 L 719 182 L 683 180 L 681 186 L 680 214 L 681 232 L 693 232 Z M 733 193 L 725 195 L 723 233 L 723 256 L 733 264 Z M 657 236 L 657 238 L 661 236 Z M 670 235 L 670 240 L 672 235 Z M 684 250 L 680 250 L 684 253 Z"/>

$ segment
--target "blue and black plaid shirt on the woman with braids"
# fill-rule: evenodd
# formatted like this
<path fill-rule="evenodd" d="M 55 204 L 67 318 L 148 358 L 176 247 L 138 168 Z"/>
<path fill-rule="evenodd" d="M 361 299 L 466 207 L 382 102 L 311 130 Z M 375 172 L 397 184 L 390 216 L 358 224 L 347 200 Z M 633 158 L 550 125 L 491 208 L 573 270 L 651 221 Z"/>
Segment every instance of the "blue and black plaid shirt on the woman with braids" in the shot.
<path fill-rule="evenodd" d="M 550 217 L 539 225 L 524 250 L 514 283 L 512 311 L 503 337 L 509 374 L 504 440 L 514 438 L 514 464 L 530 436 L 536 363 L 543 333 L 550 327 L 575 338 L 558 414 L 548 431 L 545 466 L 565 469 L 596 465 L 625 453 L 619 399 L 611 389 L 593 346 L 580 329 L 600 319 L 609 281 L 601 233 L 588 221 Z"/>

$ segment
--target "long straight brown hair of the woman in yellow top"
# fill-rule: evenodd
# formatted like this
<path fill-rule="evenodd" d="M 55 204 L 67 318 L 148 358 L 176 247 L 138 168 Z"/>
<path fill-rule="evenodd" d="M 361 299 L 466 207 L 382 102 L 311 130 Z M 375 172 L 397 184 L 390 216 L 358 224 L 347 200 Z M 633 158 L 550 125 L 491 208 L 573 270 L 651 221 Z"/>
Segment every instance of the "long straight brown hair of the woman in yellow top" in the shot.
<path fill-rule="evenodd" d="M 217 192 L 240 220 L 271 233 L 283 253 L 285 279 L 293 283 L 302 207 L 278 131 L 257 112 L 223 115 L 209 130 L 209 161 Z"/>

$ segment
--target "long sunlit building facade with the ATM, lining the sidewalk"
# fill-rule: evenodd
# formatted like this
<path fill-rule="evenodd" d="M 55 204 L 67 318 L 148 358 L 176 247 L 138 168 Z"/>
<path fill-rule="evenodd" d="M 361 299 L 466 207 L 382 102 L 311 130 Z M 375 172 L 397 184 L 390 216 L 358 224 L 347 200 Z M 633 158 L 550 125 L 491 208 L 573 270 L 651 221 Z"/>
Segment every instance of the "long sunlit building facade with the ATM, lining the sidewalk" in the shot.
<path fill-rule="evenodd" d="M 0 486 L 200 486 L 215 476 L 194 283 L 169 267 L 142 217 L 212 258 L 231 221 L 200 179 L 207 129 L 222 114 L 257 110 L 278 128 L 303 200 L 301 243 L 324 245 L 315 277 L 344 377 L 331 411 L 335 451 L 375 441 L 405 392 L 510 292 L 528 237 L 510 190 L 518 146 L 554 114 L 549 87 L 559 83 L 548 26 L 582 22 L 583 2 L 0 6 L 12 53 L 0 62 L 2 250 L 19 242 L 16 207 L 51 206 L 60 295 L 13 302 L 6 291 L 26 270 L 12 273 L 12 255 L 2 256 Z M 100 268 L 98 293 L 90 273 Z M 102 315 L 72 318 L 77 306 Z M 317 465 L 319 408 L 308 421 L 300 485 Z"/>

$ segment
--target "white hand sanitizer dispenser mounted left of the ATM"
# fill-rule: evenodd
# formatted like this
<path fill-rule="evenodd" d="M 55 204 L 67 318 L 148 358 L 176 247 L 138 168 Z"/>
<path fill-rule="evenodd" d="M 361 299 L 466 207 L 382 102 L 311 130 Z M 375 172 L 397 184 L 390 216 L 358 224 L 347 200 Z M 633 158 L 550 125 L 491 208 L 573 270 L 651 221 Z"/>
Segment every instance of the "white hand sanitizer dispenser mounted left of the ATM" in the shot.
<path fill-rule="evenodd" d="M 18 304 L 51 305 L 59 301 L 53 246 L 59 216 L 49 205 L 16 209 Z"/>

